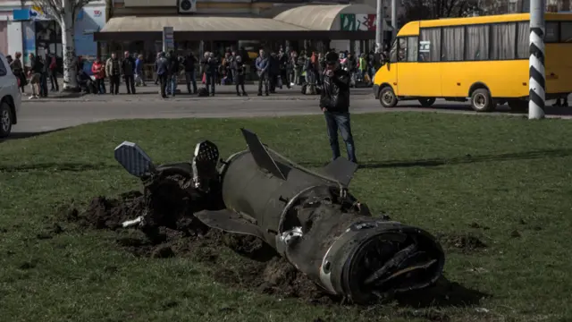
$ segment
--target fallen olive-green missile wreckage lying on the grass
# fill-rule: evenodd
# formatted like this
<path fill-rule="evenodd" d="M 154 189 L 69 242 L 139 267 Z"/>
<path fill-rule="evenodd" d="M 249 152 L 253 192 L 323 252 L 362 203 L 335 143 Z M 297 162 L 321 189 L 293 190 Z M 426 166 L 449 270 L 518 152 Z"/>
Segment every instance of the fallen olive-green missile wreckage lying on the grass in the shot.
<path fill-rule="evenodd" d="M 195 199 L 220 199 L 195 216 L 227 233 L 256 236 L 325 292 L 356 303 L 418 290 L 442 275 L 444 253 L 424 230 L 372 216 L 349 193 L 357 165 L 343 157 L 312 171 L 241 129 L 248 149 L 219 160 L 216 145 L 199 142 L 189 162 L 154 165 L 135 143 L 123 142 L 115 159 L 144 182 L 162 173 L 189 178 Z M 124 227 L 144 226 L 140 216 Z"/>

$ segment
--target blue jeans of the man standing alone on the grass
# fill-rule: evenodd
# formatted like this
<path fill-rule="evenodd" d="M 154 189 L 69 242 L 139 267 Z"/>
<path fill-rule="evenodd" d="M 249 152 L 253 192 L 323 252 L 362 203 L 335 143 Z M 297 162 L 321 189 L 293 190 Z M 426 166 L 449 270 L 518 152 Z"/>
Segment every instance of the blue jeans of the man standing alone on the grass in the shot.
<path fill-rule="evenodd" d="M 330 139 L 330 147 L 332 148 L 332 159 L 340 157 L 340 143 L 338 142 L 338 130 L 340 130 L 341 138 L 346 143 L 348 151 L 348 159 L 357 163 L 356 148 L 354 147 L 354 138 L 351 135 L 351 126 L 349 125 L 349 112 L 324 112 L 325 124 L 328 129 L 328 138 Z"/>

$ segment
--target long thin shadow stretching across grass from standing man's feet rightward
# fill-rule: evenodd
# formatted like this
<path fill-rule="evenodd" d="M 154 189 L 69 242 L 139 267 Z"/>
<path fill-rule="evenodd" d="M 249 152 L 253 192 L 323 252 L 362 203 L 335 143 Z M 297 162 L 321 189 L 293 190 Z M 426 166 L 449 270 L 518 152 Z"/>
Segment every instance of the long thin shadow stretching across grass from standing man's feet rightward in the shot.
<path fill-rule="evenodd" d="M 572 148 L 557 148 L 557 149 L 541 149 L 528 152 L 516 153 L 503 153 L 500 155 L 482 155 L 464 157 L 450 157 L 450 158 L 432 158 L 425 160 L 390 160 L 385 162 L 373 162 L 359 164 L 361 169 L 380 169 L 386 167 L 430 167 L 439 165 L 463 165 L 478 162 L 491 162 L 491 161 L 514 161 L 514 160 L 532 160 L 551 157 L 569 157 L 572 156 Z M 308 167 L 322 167 L 324 164 L 318 163 L 302 163 L 303 166 Z"/>

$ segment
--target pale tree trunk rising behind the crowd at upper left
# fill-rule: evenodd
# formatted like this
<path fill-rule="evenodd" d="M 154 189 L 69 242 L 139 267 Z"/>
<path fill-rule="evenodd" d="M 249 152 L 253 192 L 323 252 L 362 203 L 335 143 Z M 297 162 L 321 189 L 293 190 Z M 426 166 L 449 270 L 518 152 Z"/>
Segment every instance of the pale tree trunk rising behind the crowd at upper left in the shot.
<path fill-rule="evenodd" d="M 78 64 L 75 55 L 74 24 L 81 8 L 92 0 L 32 0 L 42 8 L 48 18 L 54 19 L 62 28 L 63 47 L 63 89 L 78 88 Z"/>

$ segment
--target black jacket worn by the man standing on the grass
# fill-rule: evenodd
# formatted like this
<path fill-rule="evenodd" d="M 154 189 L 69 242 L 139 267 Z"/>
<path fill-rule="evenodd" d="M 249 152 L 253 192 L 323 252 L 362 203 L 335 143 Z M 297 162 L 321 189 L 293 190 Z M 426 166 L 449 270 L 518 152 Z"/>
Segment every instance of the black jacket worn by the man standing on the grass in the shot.
<path fill-rule="evenodd" d="M 332 77 L 324 75 L 324 87 L 320 97 L 320 108 L 328 112 L 349 111 L 349 73 L 338 68 Z"/>

